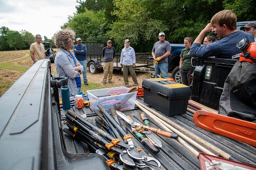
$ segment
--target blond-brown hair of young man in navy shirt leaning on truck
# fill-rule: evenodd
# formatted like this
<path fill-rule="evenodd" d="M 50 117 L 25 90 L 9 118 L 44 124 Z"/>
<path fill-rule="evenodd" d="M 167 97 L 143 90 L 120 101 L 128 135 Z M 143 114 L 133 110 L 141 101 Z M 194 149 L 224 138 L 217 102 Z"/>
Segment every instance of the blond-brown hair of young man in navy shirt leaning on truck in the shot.
<path fill-rule="evenodd" d="M 231 10 L 222 10 L 216 13 L 211 19 L 211 24 L 219 24 L 222 26 L 225 24 L 229 29 L 236 29 L 237 16 Z"/>

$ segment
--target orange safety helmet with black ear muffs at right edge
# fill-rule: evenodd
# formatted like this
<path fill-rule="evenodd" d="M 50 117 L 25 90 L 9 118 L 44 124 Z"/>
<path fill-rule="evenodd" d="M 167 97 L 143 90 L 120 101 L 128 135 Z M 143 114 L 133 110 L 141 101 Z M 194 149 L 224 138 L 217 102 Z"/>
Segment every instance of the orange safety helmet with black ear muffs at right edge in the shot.
<path fill-rule="evenodd" d="M 236 46 L 242 50 L 239 61 L 247 61 L 250 63 L 256 63 L 256 42 L 250 43 L 249 40 L 244 38 L 236 44 Z"/>

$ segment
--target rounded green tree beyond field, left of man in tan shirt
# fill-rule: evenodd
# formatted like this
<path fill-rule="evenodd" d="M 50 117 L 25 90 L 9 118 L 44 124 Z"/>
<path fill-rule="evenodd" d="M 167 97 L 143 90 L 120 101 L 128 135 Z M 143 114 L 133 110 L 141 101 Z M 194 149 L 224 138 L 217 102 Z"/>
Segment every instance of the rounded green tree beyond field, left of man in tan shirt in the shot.
<path fill-rule="evenodd" d="M 9 30 L 6 32 L 6 40 L 10 48 L 15 50 L 25 47 L 24 38 L 18 31 Z"/>

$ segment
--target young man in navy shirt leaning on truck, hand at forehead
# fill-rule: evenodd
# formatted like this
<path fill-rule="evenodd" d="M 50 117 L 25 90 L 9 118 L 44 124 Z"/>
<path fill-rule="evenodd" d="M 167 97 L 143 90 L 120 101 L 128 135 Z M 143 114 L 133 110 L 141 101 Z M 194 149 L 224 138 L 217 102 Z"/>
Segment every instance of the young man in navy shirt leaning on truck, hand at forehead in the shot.
<path fill-rule="evenodd" d="M 194 41 L 190 48 L 190 55 L 198 58 L 215 56 L 216 58 L 238 59 L 242 51 L 236 47 L 236 44 L 244 38 L 254 42 L 254 38 L 250 33 L 238 31 L 236 21 L 236 14 L 231 10 L 216 13 L 211 23 L 206 25 Z M 205 33 L 210 31 L 217 35 L 219 41 L 201 46 Z"/>

